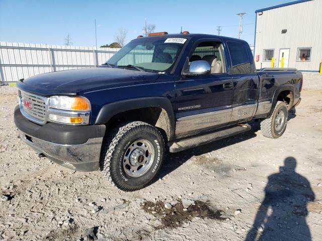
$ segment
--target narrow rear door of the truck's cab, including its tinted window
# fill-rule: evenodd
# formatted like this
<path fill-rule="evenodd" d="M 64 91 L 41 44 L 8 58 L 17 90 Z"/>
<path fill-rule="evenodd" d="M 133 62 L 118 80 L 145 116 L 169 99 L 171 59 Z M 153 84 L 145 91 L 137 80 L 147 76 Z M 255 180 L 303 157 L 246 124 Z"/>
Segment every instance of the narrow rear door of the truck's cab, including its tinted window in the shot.
<path fill-rule="evenodd" d="M 249 46 L 244 41 L 227 41 L 231 58 L 230 76 L 233 82 L 231 123 L 247 121 L 255 114 L 259 79 Z"/>

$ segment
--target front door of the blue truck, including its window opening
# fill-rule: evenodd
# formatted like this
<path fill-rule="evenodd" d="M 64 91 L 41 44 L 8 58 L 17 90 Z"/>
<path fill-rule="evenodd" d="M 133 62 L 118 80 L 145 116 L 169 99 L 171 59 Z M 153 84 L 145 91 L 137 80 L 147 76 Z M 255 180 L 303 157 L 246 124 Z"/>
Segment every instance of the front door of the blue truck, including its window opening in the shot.
<path fill-rule="evenodd" d="M 232 78 L 226 71 L 221 42 L 199 40 L 191 49 L 190 62 L 208 61 L 212 73 L 176 80 L 177 137 L 226 125 L 232 112 Z"/>

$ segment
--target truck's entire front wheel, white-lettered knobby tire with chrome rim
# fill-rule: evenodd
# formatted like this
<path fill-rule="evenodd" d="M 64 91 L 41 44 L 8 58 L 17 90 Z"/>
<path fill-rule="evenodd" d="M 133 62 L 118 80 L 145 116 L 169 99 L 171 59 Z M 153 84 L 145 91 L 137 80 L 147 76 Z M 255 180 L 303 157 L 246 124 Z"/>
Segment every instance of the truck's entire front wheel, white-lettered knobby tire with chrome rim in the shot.
<path fill-rule="evenodd" d="M 130 122 L 113 129 L 103 143 L 100 169 L 104 177 L 123 191 L 149 185 L 165 154 L 161 133 L 144 122 Z"/>

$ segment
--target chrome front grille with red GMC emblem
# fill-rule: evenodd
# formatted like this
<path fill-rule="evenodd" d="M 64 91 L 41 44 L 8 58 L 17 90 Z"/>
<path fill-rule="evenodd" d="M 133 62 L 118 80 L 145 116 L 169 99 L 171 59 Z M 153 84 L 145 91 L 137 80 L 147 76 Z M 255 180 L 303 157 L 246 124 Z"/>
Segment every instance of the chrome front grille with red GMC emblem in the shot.
<path fill-rule="evenodd" d="M 34 117 L 39 122 L 45 121 L 45 98 L 41 98 L 33 94 L 21 91 L 21 106 L 28 115 Z"/>

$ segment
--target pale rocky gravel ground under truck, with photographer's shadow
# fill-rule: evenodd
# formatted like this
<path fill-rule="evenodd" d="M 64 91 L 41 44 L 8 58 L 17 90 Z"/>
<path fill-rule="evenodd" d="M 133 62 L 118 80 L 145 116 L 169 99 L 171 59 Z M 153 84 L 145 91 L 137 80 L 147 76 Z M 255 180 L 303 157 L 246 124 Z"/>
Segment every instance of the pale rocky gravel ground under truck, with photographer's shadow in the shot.
<path fill-rule="evenodd" d="M 135 192 L 38 157 L 17 138 L 16 90 L 3 86 L 0 240 L 322 240 L 321 83 L 305 74 L 281 138 L 252 122 L 247 133 L 169 154 L 159 178 Z"/>

